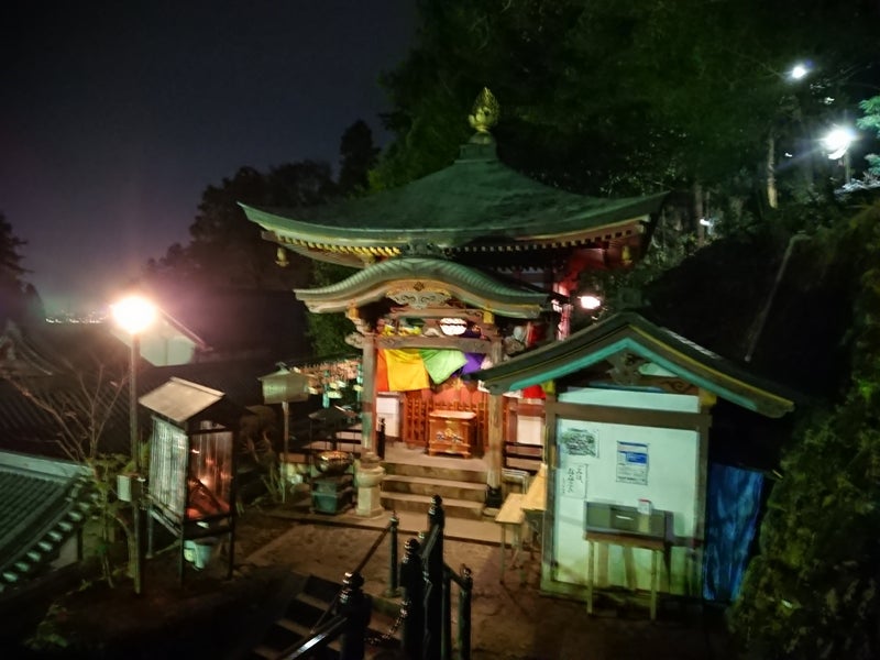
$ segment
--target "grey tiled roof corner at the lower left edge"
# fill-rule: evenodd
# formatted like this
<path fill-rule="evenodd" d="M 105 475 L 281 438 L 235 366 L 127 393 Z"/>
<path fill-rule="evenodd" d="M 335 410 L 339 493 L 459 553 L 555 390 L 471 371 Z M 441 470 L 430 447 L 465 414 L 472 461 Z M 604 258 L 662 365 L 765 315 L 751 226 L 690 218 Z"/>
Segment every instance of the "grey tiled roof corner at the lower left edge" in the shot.
<path fill-rule="evenodd" d="M 94 506 L 88 469 L 0 452 L 0 593 L 46 571 Z"/>

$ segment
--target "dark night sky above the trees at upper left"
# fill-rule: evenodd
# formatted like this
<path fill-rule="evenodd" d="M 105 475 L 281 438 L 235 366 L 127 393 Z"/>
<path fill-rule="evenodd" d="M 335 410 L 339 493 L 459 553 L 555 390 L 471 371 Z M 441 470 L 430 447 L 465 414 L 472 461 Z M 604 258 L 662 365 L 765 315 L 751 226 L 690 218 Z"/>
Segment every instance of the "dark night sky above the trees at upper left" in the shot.
<path fill-rule="evenodd" d="M 14 9 L 16 8 L 18 9 Z M 413 0 L 4 6 L 0 212 L 47 311 L 100 306 L 189 241 L 201 193 L 245 165 L 338 163 L 355 120 L 387 141 L 381 72 Z"/>

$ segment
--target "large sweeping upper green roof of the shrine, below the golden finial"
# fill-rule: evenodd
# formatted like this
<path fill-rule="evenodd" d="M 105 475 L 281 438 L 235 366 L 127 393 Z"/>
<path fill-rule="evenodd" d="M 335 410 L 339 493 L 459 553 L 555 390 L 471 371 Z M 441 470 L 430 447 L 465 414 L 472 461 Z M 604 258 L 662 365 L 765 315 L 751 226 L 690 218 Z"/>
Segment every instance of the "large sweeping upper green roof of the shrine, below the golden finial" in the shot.
<path fill-rule="evenodd" d="M 275 238 L 322 246 L 450 249 L 477 240 L 552 241 L 591 231 L 592 238 L 615 238 L 615 226 L 647 220 L 664 195 L 575 195 L 510 169 L 497 160 L 494 145 L 466 144 L 449 167 L 399 188 L 304 209 L 242 208 Z"/>

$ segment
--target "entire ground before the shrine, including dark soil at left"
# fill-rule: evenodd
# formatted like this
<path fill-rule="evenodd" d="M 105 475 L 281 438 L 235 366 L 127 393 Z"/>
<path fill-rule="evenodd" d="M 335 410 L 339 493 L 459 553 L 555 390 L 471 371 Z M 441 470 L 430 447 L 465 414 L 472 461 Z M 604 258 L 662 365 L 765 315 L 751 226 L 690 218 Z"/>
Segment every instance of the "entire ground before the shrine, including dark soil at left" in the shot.
<path fill-rule="evenodd" d="M 427 527 L 420 517 L 405 518 L 400 557 L 405 540 Z M 350 526 L 355 522 L 367 527 Z M 67 648 L 34 653 L 7 646 L 3 657 L 235 660 L 260 638 L 271 622 L 268 613 L 295 593 L 301 576 L 341 581 L 365 557 L 385 524 L 385 518 L 359 521 L 353 516 L 302 515 L 290 507 L 272 515 L 249 509 L 240 518 L 232 580 L 224 579 L 224 562 L 216 560 L 201 572 L 188 569 L 180 586 L 175 554 L 167 552 L 147 562 L 145 593 L 140 597 L 124 582 L 114 590 L 91 585 L 67 596 L 53 625 L 44 629 L 59 634 Z M 736 658 L 717 610 L 662 603 L 659 620 L 651 624 L 644 604 L 604 598 L 591 617 L 582 603 L 540 595 L 537 558 L 526 564 L 522 583 L 517 573 L 508 573 L 501 583 L 494 524 L 448 525 L 448 529 L 486 537 L 482 542 L 446 542 L 447 564 L 453 569 L 465 564 L 473 571 L 472 657 L 477 660 Z M 376 601 L 380 626 L 389 625 L 399 601 L 383 598 L 391 575 L 387 539 L 377 546 L 363 575 L 365 591 Z M 453 612 L 453 625 L 454 618 Z"/>

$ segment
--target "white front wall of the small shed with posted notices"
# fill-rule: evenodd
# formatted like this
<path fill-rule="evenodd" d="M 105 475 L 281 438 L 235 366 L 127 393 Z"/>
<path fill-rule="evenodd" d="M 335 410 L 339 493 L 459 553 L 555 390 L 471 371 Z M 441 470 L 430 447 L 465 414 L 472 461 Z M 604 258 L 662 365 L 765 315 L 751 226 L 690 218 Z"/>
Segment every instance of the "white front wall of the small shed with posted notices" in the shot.
<path fill-rule="evenodd" d="M 560 400 L 678 411 L 696 411 L 700 408 L 695 396 L 609 389 L 566 393 L 560 396 Z M 572 433 L 578 438 L 592 437 L 594 442 L 587 444 L 595 451 L 570 453 L 565 439 L 571 438 Z M 636 507 L 639 499 L 649 499 L 654 509 L 672 512 L 673 531 L 679 537 L 679 542 L 693 537 L 700 474 L 698 432 L 560 419 L 556 437 L 559 466 L 551 466 L 551 470 L 556 470 L 553 560 L 558 565 L 558 581 L 586 584 L 586 501 Z M 631 446 L 622 447 L 620 443 Z M 622 449 L 635 450 L 630 457 L 647 454 L 647 466 L 642 469 L 640 463 L 622 462 Z M 592 453 L 595 455 L 591 455 Z M 627 483 L 627 480 L 637 483 Z M 629 588 L 650 588 L 650 551 L 615 546 L 598 548 L 596 583 L 600 586 L 612 584 Z M 692 575 L 693 566 L 689 559 L 690 553 L 685 548 L 673 548 L 671 583 L 667 583 L 666 572 L 661 571 L 661 590 L 680 594 L 691 591 L 689 575 Z"/>

